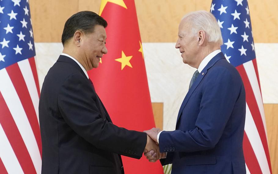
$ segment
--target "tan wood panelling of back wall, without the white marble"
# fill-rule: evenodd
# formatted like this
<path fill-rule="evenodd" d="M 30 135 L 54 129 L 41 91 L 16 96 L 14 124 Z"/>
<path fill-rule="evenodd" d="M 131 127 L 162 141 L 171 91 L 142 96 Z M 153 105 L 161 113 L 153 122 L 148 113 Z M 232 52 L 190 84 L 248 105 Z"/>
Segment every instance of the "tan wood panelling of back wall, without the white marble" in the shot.
<path fill-rule="evenodd" d="M 60 42 L 64 23 L 72 14 L 99 11 L 101 0 L 29 0 L 35 42 Z M 211 0 L 135 0 L 141 39 L 176 42 L 181 17 L 194 10 L 209 10 Z M 278 1 L 249 1 L 255 43 L 278 43 Z M 275 29 L 275 30 L 274 30 Z M 276 51 L 276 50 L 275 50 Z M 278 52 L 277 52 L 278 53 Z M 278 103 L 278 102 L 277 102 Z M 273 173 L 278 173 L 278 104 L 265 104 L 267 133 Z M 163 104 L 153 104 L 156 123 L 163 125 Z M 160 119 L 159 119 L 160 118 Z"/>

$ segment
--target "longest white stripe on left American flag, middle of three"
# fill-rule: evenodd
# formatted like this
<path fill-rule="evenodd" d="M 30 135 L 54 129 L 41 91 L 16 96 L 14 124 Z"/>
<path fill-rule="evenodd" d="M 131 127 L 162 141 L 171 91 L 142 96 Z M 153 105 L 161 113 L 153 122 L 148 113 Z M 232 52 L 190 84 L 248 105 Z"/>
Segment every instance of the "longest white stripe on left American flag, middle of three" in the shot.
<path fill-rule="evenodd" d="M 0 92 L 2 93 L 9 111 L 13 116 L 16 126 L 35 166 L 36 172 L 40 173 L 42 168 L 42 159 L 38 149 L 38 144 L 24 108 L 5 68 L 0 70 L 0 81 Z"/>

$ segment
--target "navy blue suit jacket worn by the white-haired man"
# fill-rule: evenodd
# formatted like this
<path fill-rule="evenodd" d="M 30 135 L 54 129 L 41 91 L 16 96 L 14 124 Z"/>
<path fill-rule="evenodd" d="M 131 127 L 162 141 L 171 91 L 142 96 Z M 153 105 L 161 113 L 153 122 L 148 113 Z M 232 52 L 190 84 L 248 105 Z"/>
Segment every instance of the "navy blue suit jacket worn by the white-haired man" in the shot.
<path fill-rule="evenodd" d="M 246 173 L 245 89 L 238 71 L 217 54 L 197 77 L 178 113 L 176 130 L 159 136 L 172 174 Z"/>

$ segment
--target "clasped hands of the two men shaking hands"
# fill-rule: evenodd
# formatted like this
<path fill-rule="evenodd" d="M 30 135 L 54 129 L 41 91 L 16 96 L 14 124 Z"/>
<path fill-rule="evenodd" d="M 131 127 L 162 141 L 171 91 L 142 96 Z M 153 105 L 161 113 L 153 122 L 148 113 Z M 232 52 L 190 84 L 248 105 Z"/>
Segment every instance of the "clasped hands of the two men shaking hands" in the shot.
<path fill-rule="evenodd" d="M 147 144 L 144 150 L 144 156 L 149 162 L 156 162 L 161 158 L 166 158 L 166 153 L 159 152 L 159 146 L 157 142 L 157 135 L 161 130 L 159 128 L 152 128 L 145 130 L 147 133 Z"/>

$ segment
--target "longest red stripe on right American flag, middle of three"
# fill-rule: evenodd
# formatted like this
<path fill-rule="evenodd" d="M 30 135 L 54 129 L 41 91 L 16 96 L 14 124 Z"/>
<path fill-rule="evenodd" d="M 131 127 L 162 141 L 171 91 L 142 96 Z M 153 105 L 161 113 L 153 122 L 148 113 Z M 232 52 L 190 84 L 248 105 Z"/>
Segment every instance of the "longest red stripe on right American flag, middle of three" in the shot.
<path fill-rule="evenodd" d="M 244 66 L 243 65 L 237 66 L 236 69 L 239 71 L 240 76 L 242 78 L 244 88 L 245 88 L 245 93 L 246 93 L 246 102 L 248 104 L 248 107 L 249 107 L 252 117 L 254 119 L 258 133 L 260 135 L 262 145 L 264 147 L 265 155 L 266 155 L 266 158 L 268 161 L 269 169 L 271 171 L 269 149 L 268 149 L 268 143 L 267 143 L 267 139 L 266 139 L 266 132 L 265 132 L 265 128 L 264 128 L 264 125 L 262 122 L 262 116 L 260 114 L 260 110 L 258 108 L 258 104 L 257 104 L 256 98 L 255 98 L 252 86 L 248 79 L 247 73 L 244 69 Z"/>

